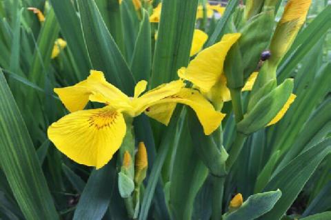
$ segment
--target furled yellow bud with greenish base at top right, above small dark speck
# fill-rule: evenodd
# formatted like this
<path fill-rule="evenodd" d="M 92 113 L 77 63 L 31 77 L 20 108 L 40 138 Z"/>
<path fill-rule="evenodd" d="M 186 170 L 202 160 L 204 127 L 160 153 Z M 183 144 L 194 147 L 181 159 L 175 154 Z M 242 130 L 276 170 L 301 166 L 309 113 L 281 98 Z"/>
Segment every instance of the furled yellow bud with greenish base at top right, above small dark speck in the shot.
<path fill-rule="evenodd" d="M 281 58 L 288 51 L 297 37 L 297 34 L 305 22 L 312 0 L 290 0 L 285 6 L 283 17 L 277 24 L 277 28 L 270 44 L 271 59 L 278 65 Z"/>

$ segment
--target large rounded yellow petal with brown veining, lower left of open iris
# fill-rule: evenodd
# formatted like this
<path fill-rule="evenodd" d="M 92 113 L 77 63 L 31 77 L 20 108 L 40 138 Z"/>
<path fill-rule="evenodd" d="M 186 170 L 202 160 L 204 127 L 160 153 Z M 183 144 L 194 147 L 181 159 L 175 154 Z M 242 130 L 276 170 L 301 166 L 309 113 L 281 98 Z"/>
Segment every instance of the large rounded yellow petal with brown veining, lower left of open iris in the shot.
<path fill-rule="evenodd" d="M 111 108 L 81 110 L 48 128 L 48 137 L 67 157 L 97 169 L 112 159 L 126 134 L 123 115 Z"/>

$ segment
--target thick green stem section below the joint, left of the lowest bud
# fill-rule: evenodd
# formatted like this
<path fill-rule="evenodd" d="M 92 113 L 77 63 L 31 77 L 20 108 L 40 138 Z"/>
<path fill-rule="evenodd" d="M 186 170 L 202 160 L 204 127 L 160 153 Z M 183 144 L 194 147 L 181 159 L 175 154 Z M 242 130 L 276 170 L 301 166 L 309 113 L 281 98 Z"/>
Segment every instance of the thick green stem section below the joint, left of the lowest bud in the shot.
<path fill-rule="evenodd" d="M 222 201 L 225 177 L 212 178 L 212 220 L 222 219 Z"/>

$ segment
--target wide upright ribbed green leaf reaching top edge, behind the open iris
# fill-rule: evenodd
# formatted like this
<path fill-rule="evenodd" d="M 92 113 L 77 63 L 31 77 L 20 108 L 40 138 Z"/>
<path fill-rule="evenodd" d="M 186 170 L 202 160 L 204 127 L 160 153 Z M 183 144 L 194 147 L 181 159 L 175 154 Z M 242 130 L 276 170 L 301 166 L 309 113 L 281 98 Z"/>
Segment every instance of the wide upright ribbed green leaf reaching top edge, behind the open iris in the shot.
<path fill-rule="evenodd" d="M 150 79 L 152 88 L 176 79 L 177 70 L 188 65 L 197 5 L 197 0 L 162 1 Z"/>

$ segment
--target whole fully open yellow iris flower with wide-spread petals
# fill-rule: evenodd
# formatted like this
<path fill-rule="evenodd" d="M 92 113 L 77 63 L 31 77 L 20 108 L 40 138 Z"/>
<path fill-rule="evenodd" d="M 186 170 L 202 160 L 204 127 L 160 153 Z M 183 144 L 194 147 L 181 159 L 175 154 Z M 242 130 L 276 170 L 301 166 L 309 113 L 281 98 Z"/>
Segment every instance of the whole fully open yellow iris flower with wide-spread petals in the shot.
<path fill-rule="evenodd" d="M 108 83 L 103 72 L 91 70 L 86 80 L 74 86 L 55 88 L 54 92 L 71 113 L 52 123 L 48 137 L 70 159 L 102 168 L 121 146 L 126 134 L 125 117 L 136 117 L 146 111 L 150 117 L 168 124 L 172 108 L 176 103 L 183 103 L 196 112 L 205 134 L 216 130 L 224 117 L 197 90 L 184 88 L 185 83 L 181 80 L 142 94 L 146 86 L 146 81 L 139 81 L 134 88 L 134 97 L 128 97 Z M 88 101 L 106 106 L 83 110 Z M 168 109 L 170 113 L 164 116 L 150 110 L 154 106 Z"/>

